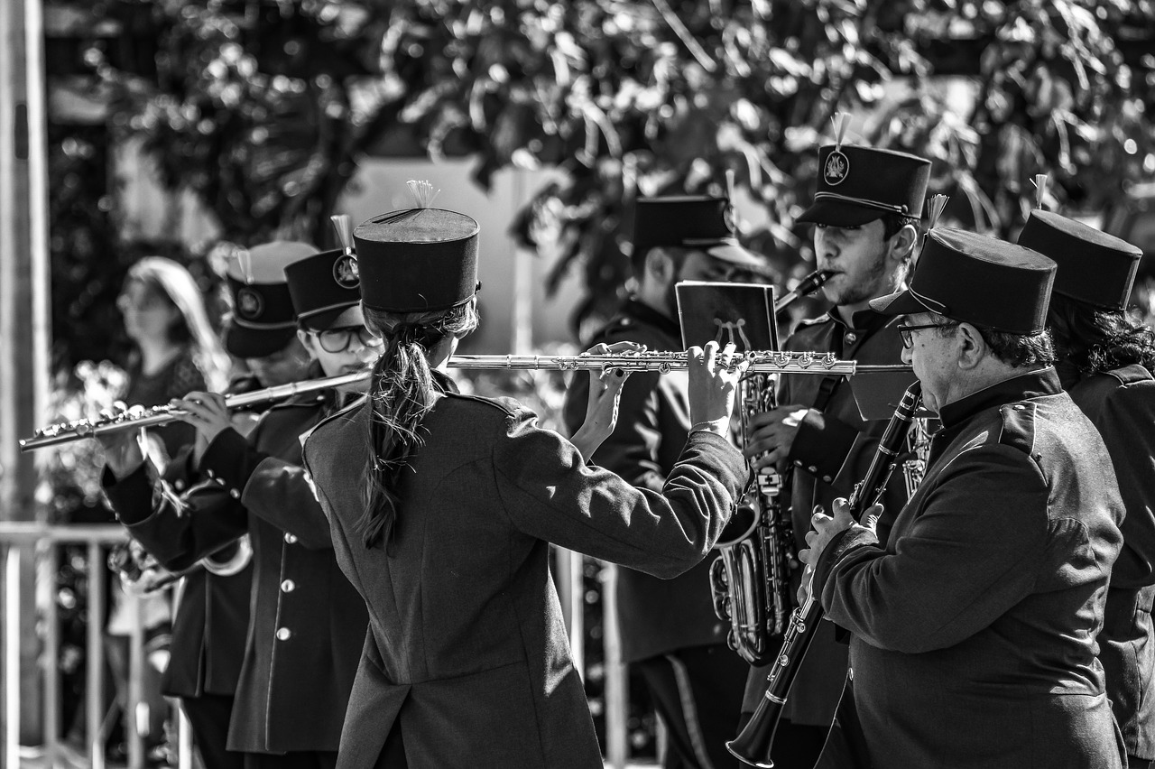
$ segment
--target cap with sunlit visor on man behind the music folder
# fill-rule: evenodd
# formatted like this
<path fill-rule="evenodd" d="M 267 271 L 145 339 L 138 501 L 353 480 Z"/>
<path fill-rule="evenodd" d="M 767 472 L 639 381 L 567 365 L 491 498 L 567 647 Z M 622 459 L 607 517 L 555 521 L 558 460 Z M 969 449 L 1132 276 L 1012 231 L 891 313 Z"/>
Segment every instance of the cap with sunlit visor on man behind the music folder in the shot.
<path fill-rule="evenodd" d="M 725 197 L 643 197 L 634 214 L 635 263 L 650 248 L 696 248 L 715 259 L 765 270 L 766 260 L 738 245 L 733 207 Z"/>

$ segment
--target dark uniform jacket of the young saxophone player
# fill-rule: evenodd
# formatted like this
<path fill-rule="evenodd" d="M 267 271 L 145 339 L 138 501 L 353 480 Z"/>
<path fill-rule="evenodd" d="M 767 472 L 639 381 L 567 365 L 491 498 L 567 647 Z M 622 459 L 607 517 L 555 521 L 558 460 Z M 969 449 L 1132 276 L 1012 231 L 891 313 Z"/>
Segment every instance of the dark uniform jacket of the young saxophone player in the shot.
<path fill-rule="evenodd" d="M 854 359 L 864 365 L 901 364 L 902 339 L 895 329 L 900 320 L 864 309 L 855 313 L 851 326 L 847 326 L 832 309 L 821 318 L 799 323 L 783 349 L 833 352 L 839 359 Z M 806 547 L 805 537 L 815 506 L 830 514 L 836 498 L 850 497 L 855 484 L 866 475 L 887 421 L 864 421 L 850 382 L 842 376 L 784 375 L 778 384 L 778 404 L 819 406 L 819 413 L 808 415 L 799 426 L 784 472 L 795 545 L 800 551 Z M 880 530 L 887 528 L 887 521 L 893 521 L 907 502 L 901 476 L 901 471 L 895 472 L 882 498 L 886 520 L 880 522 Z M 800 577 L 799 569 L 796 582 Z M 768 673 L 769 666 L 751 670 L 743 710 L 751 712 L 758 705 L 766 692 Z M 782 715 L 798 724 L 828 726 L 845 674 L 847 644 L 835 640 L 834 626 L 826 622 L 814 635 Z"/>

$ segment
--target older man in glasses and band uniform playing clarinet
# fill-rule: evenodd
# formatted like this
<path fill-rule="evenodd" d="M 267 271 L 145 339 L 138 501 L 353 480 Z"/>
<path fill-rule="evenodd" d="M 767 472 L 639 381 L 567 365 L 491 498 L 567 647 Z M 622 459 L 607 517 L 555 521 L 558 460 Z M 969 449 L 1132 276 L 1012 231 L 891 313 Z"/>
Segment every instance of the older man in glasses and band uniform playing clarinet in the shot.
<path fill-rule="evenodd" d="M 1051 365 L 1053 275 L 1022 246 L 934 229 L 910 289 L 871 303 L 904 316 L 903 361 L 942 428 L 885 544 L 840 499 L 802 553 L 852 634 L 870 766 L 1124 766 L 1095 644 L 1124 508 Z"/>

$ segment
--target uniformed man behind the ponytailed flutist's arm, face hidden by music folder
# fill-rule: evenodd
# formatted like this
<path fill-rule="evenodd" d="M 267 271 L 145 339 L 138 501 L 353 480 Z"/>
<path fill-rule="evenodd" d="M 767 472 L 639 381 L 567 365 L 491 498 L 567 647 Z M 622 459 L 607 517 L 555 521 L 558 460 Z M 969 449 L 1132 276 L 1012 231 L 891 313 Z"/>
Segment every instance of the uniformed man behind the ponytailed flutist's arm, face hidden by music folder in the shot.
<path fill-rule="evenodd" d="M 724 281 L 736 270 L 766 269 L 763 259 L 737 245 L 731 222 L 724 197 L 639 200 L 631 254 L 638 288 L 593 341 L 680 349 L 678 281 Z M 566 393 L 571 432 L 586 416 L 588 390 L 579 376 Z M 634 486 L 661 491 L 693 426 L 685 379 L 639 372 L 620 398 L 618 425 L 594 462 Z M 666 729 L 664 766 L 732 763 L 725 741 L 738 726 L 750 669 L 726 647 L 728 626 L 714 613 L 709 561 L 675 580 L 620 569 L 617 599 L 623 659 L 642 674 Z"/>

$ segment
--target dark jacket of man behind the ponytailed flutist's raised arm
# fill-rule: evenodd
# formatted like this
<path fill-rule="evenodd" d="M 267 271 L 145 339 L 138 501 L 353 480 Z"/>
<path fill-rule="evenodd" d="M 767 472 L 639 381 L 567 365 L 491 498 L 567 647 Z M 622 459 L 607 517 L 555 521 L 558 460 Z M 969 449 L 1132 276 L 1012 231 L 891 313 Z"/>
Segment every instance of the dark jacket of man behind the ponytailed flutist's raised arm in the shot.
<path fill-rule="evenodd" d="M 649 350 L 681 350 L 678 323 L 631 299 L 591 344 L 636 342 Z M 621 388 L 618 425 L 594 453 L 601 466 L 629 484 L 661 491 L 686 445 L 690 403 L 685 372 L 635 372 Z M 589 376 L 580 372 L 566 394 L 566 426 L 571 433 L 586 420 Z M 714 614 L 710 562 L 706 559 L 675 580 L 658 580 L 629 568 L 618 572 L 618 617 L 621 655 L 627 663 L 715 643 L 725 643 L 729 629 Z"/>

